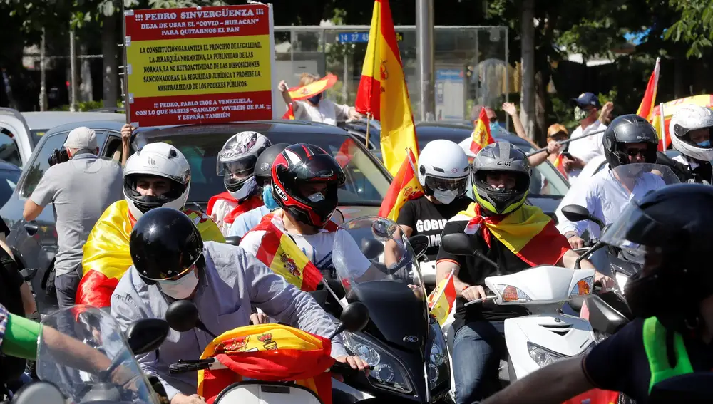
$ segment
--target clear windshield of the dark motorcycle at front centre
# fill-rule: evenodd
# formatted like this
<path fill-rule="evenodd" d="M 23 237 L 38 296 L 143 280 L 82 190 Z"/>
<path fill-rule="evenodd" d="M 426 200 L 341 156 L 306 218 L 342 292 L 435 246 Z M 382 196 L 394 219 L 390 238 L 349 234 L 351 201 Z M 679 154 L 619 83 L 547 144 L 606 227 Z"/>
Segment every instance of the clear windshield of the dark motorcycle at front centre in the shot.
<path fill-rule="evenodd" d="M 425 301 L 414 250 L 401 227 L 389 219 L 366 216 L 340 225 L 332 257 L 347 293 L 367 282 L 389 281 L 394 284 L 391 289 L 410 289 L 414 296 Z"/>

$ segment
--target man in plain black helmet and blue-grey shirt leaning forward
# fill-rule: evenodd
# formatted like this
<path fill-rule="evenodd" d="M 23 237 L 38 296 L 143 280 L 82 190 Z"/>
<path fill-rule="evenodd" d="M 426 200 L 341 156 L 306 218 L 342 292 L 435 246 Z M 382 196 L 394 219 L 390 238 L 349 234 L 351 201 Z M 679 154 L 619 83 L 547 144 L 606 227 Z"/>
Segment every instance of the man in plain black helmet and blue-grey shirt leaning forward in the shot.
<path fill-rule="evenodd" d="M 123 328 L 140 318 L 164 318 L 173 301 L 188 299 L 215 335 L 247 326 L 251 306 L 320 336 L 334 331 L 334 323 L 314 299 L 285 284 L 254 255 L 230 244 L 203 242 L 193 221 L 178 210 L 156 208 L 143 214 L 131 232 L 130 254 L 134 265 L 111 296 L 111 314 Z M 160 354 L 138 361 L 144 371 L 158 375 L 171 403 L 202 403 L 192 397 L 195 375 L 171 375 L 168 365 L 199 358 L 210 341 L 210 334 L 199 330 L 172 333 Z M 341 341 L 333 341 L 332 356 L 346 362 L 346 355 Z"/>

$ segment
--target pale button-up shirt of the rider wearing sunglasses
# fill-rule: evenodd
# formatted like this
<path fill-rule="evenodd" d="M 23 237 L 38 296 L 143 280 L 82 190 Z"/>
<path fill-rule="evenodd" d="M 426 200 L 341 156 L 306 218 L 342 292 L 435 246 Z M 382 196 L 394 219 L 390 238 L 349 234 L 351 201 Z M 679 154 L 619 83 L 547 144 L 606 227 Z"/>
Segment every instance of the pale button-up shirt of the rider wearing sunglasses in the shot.
<path fill-rule="evenodd" d="M 637 178 L 632 193 L 629 193 L 614 177 L 612 170 L 602 169 L 586 185 L 584 192 L 577 192 L 571 203 L 568 204 L 586 207 L 592 216 L 602 220 L 606 225 L 618 219 L 629 202 L 639 200 L 647 192 L 664 187 L 666 183 L 658 175 L 644 172 Z M 563 200 L 560 206 L 564 205 Z M 599 227 L 596 224 L 590 224 L 588 220 L 570 222 L 559 214 L 558 219 L 560 222 L 557 228 L 562 234 L 576 232 L 581 236 L 589 226 L 590 237 L 599 237 Z"/>

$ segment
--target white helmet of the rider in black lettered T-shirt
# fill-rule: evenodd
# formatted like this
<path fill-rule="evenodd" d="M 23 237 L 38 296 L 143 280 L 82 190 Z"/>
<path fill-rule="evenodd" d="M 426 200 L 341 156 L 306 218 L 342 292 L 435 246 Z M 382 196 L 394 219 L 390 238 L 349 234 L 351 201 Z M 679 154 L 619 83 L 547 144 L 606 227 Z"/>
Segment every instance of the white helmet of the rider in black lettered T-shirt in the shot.
<path fill-rule="evenodd" d="M 461 146 L 450 140 L 432 140 L 419 155 L 419 182 L 426 195 L 449 204 L 466 193 L 471 165 Z"/>

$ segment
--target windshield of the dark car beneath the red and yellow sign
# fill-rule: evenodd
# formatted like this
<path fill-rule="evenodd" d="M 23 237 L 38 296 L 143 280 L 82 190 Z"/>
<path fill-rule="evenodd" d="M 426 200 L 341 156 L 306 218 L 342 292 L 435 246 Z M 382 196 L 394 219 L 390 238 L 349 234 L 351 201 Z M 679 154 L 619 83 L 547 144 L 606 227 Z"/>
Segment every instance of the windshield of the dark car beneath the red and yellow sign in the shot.
<path fill-rule="evenodd" d="M 340 205 L 379 206 L 384 200 L 386 190 L 389 189 L 389 177 L 364 147 L 346 133 L 341 135 L 258 131 L 265 133 L 272 144 L 312 143 L 331 152 L 347 175 L 347 182 L 339 189 Z M 143 142 L 165 142 L 177 147 L 190 165 L 188 202 L 205 203 L 213 195 L 225 192 L 222 176 L 215 173 L 215 160 L 222 145 L 234 134 L 235 131 L 227 130 L 197 134 L 195 129 L 191 132 L 189 128 L 173 128 L 162 130 L 158 136 L 146 136 Z"/>

